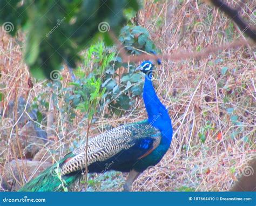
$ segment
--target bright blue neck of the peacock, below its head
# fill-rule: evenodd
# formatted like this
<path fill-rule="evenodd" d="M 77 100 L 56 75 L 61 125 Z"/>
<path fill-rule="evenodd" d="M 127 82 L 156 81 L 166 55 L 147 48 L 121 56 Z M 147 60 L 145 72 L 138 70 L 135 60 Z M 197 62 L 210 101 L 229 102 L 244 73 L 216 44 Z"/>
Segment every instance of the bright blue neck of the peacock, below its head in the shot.
<path fill-rule="evenodd" d="M 157 97 L 156 91 L 154 90 L 151 75 L 146 75 L 143 100 L 146 107 L 148 121 L 154 127 L 157 127 L 167 141 L 172 140 L 172 123 L 167 109 Z"/>

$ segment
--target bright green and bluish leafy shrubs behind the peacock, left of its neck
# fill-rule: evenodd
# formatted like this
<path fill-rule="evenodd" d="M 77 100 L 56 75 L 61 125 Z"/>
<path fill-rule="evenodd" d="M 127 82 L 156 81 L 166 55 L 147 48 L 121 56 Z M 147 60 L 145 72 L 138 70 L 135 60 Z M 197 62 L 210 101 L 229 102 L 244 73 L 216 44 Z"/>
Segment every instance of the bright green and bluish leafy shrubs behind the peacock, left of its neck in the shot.
<path fill-rule="evenodd" d="M 125 31 L 126 35 L 122 33 L 120 40 L 126 39 L 123 44 L 126 48 L 128 46 L 129 53 L 139 54 L 139 50 L 146 50 L 146 42 L 152 43 L 149 32 L 140 26 L 125 26 Z M 147 38 L 143 40 L 144 44 L 139 45 L 138 37 L 133 33 L 145 34 Z M 133 45 L 137 45 L 139 50 Z M 136 104 L 134 97 L 142 95 L 144 74 L 134 72 L 137 65 L 123 63 L 117 56 L 116 47 L 106 46 L 104 42 L 92 44 L 81 54 L 81 59 L 83 64 L 73 71 L 75 80 L 65 87 L 62 78 L 43 83 L 54 91 L 52 97 L 55 108 L 59 108 L 59 100 L 64 99 L 65 103 L 61 103 L 62 107 L 59 108 L 63 121 L 73 121 L 78 110 L 85 114 L 85 119 L 93 120 L 93 115 L 105 107 L 108 108 L 104 110 L 106 117 L 122 115 Z M 36 109 L 41 123 L 46 120 L 43 111 L 48 111 L 48 96 L 48 93 L 42 92 L 33 100 L 32 108 Z"/>

